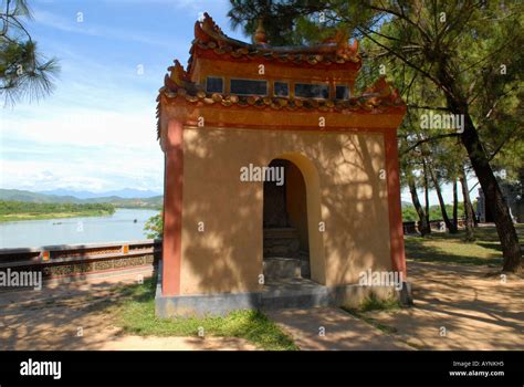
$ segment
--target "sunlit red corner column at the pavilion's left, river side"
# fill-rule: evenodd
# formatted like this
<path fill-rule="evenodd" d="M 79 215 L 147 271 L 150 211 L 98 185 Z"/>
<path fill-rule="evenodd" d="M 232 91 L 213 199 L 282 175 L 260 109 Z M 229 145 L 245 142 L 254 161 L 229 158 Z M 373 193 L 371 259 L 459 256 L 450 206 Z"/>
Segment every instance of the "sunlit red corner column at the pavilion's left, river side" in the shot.
<path fill-rule="evenodd" d="M 167 127 L 164 167 L 163 295 L 180 293 L 182 242 L 184 127 L 171 119 Z"/>

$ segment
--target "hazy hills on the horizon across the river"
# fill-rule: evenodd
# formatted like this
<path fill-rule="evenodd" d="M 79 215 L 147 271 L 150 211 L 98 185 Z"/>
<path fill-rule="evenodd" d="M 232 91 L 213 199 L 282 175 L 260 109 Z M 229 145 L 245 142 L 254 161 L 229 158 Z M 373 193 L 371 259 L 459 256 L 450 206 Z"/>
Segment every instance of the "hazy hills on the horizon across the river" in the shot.
<path fill-rule="evenodd" d="M 154 208 L 160 209 L 164 197 L 157 195 L 148 198 L 123 198 L 119 196 L 106 196 L 95 198 L 78 198 L 75 196 L 48 195 L 31 192 L 21 189 L 0 189 L 0 200 L 30 201 L 41 203 L 112 203 L 119 208 Z"/>

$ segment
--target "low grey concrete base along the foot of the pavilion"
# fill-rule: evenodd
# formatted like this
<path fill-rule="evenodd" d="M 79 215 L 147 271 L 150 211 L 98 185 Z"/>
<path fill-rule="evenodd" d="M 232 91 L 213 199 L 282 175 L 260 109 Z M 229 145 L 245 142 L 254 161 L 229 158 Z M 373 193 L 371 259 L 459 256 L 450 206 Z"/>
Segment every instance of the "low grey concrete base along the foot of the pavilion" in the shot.
<path fill-rule="evenodd" d="M 220 293 L 165 296 L 158 281 L 155 297 L 156 315 L 175 316 L 226 315 L 235 310 L 271 310 L 317 306 L 356 306 L 371 294 L 379 299 L 399 296 L 394 287 L 386 286 L 323 286 L 301 278 L 273 280 L 261 292 Z"/>

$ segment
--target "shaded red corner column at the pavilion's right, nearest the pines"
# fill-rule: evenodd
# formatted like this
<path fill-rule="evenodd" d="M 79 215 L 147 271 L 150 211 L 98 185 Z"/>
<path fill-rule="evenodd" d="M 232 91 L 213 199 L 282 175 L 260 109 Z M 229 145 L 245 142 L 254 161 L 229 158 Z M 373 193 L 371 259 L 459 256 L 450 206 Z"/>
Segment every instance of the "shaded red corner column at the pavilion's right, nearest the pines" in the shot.
<path fill-rule="evenodd" d="M 402 210 L 400 205 L 400 170 L 396 129 L 384 133 L 386 147 L 386 174 L 388 181 L 389 240 L 392 269 L 402 273 L 407 281 L 406 251 L 404 248 Z"/>

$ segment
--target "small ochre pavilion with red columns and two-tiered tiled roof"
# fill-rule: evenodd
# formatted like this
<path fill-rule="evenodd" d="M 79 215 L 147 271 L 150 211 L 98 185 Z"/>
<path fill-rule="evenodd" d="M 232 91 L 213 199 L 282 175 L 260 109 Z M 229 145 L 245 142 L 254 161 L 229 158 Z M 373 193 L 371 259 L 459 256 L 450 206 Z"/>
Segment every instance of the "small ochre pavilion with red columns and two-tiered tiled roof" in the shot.
<path fill-rule="evenodd" d="M 344 34 L 271 46 L 262 25 L 245 43 L 207 13 L 196 22 L 189 62 L 168 69 L 157 100 L 158 315 L 352 304 L 394 291 L 363 285 L 364 272 L 407 281 L 397 154 L 406 105 L 384 77 L 356 91 L 360 66 Z"/>

